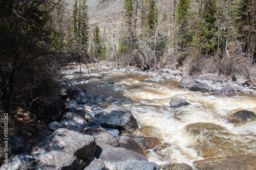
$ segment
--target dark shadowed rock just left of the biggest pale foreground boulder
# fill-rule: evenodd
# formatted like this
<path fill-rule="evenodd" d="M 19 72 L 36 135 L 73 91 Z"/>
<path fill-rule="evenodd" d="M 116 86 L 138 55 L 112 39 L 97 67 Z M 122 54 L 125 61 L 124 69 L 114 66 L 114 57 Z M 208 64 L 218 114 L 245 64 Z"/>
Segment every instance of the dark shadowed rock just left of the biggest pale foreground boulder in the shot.
<path fill-rule="evenodd" d="M 11 136 L 8 140 L 8 148 L 10 155 L 30 154 L 32 145 L 20 136 Z"/>

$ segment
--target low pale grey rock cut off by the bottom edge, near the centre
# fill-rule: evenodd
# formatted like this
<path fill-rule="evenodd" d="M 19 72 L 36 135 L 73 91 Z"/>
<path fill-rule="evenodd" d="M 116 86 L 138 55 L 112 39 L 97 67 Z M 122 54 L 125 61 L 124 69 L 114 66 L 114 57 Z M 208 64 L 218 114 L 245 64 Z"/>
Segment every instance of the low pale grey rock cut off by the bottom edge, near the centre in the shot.
<path fill-rule="evenodd" d="M 159 167 L 154 162 L 148 161 L 126 161 L 122 162 L 117 167 L 118 170 L 158 170 Z"/>

